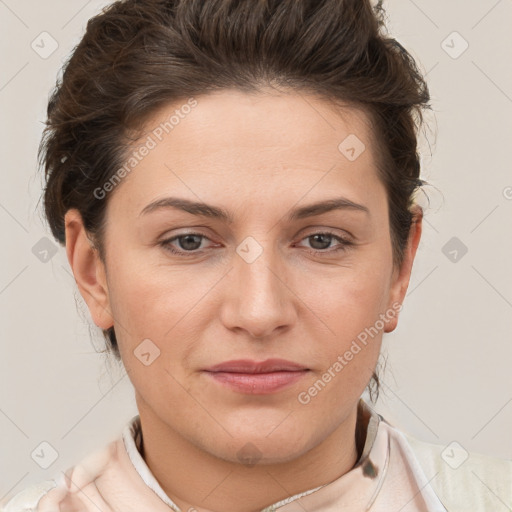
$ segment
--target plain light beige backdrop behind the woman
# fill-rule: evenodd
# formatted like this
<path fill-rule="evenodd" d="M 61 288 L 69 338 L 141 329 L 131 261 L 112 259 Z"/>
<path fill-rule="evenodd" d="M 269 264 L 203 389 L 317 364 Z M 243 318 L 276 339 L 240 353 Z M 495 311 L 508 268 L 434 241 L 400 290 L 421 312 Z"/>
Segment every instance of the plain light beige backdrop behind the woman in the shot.
<path fill-rule="evenodd" d="M 137 414 L 42 221 L 36 160 L 59 68 L 107 3 L 0 0 L 0 499 L 67 469 Z M 512 0 L 386 8 L 427 74 L 432 186 L 399 325 L 384 336 L 376 409 L 419 439 L 512 458 Z M 47 469 L 41 450 L 55 451 Z"/>

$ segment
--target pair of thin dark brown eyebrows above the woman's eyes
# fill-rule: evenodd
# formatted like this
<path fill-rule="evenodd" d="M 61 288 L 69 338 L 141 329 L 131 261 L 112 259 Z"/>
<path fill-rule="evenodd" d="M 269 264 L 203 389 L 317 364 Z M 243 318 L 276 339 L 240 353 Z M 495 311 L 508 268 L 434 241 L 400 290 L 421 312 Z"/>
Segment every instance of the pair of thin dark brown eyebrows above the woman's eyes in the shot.
<path fill-rule="evenodd" d="M 163 199 L 153 201 L 143 208 L 139 217 L 164 208 L 175 208 L 192 215 L 223 220 L 229 224 L 234 220 L 232 215 L 223 208 L 179 197 L 165 197 Z M 345 197 L 337 197 L 307 206 L 301 206 L 300 208 L 294 208 L 286 215 L 286 220 L 288 222 L 292 222 L 306 217 L 313 217 L 315 215 L 328 213 L 333 210 L 353 210 L 364 212 L 367 215 L 370 214 L 370 210 L 366 206 L 355 203 Z"/>

